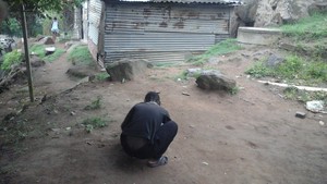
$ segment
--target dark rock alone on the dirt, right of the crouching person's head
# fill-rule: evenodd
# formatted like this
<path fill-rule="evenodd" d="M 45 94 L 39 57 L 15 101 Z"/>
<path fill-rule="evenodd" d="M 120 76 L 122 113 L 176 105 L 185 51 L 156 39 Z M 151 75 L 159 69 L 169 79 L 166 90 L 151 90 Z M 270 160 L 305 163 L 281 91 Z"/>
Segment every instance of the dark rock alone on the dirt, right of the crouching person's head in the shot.
<path fill-rule="evenodd" d="M 216 70 L 203 71 L 196 78 L 197 87 L 202 89 L 232 90 L 237 87 L 237 82 L 221 74 Z"/>

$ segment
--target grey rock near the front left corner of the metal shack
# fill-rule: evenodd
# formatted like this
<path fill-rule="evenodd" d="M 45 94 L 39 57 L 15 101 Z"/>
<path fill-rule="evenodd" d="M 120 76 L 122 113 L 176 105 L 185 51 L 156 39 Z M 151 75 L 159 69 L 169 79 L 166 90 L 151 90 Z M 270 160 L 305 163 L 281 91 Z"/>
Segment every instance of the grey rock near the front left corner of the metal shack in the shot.
<path fill-rule="evenodd" d="M 146 60 L 122 59 L 114 63 L 107 64 L 106 71 L 111 81 L 131 81 L 136 75 L 143 74 L 152 64 Z"/>

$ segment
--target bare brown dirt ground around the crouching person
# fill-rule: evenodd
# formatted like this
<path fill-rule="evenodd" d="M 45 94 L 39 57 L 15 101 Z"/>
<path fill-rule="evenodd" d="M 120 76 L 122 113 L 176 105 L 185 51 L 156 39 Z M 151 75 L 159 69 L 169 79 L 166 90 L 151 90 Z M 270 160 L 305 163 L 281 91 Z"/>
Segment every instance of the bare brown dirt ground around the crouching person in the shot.
<path fill-rule="evenodd" d="M 1 147 L 1 179 L 9 184 L 326 184 L 327 115 L 286 100 L 280 89 L 252 79 L 244 71 L 276 50 L 247 48 L 211 60 L 237 81 L 237 95 L 207 91 L 195 79 L 177 81 L 187 65 L 150 69 L 126 83 L 76 85 L 64 54 L 34 71 L 37 101 L 15 119 L 33 125 L 24 142 Z M 160 91 L 162 107 L 179 124 L 165 167 L 125 156 L 120 124 L 149 90 Z M 183 95 L 190 94 L 190 96 Z M 48 98 L 41 103 L 40 99 Z M 50 97 L 51 96 L 51 97 Z M 97 96 L 102 108 L 84 110 Z M 28 101 L 25 85 L 0 94 L 1 115 Z M 295 112 L 306 113 L 305 119 Z M 86 133 L 81 122 L 101 116 L 109 125 Z M 1 133 L 1 132 L 0 132 Z"/>

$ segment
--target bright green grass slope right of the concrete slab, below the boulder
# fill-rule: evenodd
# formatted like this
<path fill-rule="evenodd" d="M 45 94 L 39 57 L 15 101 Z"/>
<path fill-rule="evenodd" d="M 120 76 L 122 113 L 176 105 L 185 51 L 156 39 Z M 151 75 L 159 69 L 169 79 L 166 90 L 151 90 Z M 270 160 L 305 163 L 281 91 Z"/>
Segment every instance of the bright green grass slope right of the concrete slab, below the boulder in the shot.
<path fill-rule="evenodd" d="M 327 37 L 327 13 L 316 13 L 294 24 L 281 26 L 282 33 L 298 40 L 318 40 Z"/>

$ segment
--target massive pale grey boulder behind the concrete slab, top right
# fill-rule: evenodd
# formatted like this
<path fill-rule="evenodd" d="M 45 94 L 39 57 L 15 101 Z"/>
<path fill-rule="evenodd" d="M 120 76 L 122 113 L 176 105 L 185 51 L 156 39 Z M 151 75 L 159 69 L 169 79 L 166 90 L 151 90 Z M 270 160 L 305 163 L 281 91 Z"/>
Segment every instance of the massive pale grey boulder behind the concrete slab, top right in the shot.
<path fill-rule="evenodd" d="M 326 0 L 242 0 L 234 9 L 231 35 L 240 26 L 266 27 L 292 23 L 314 12 L 326 12 Z"/>

